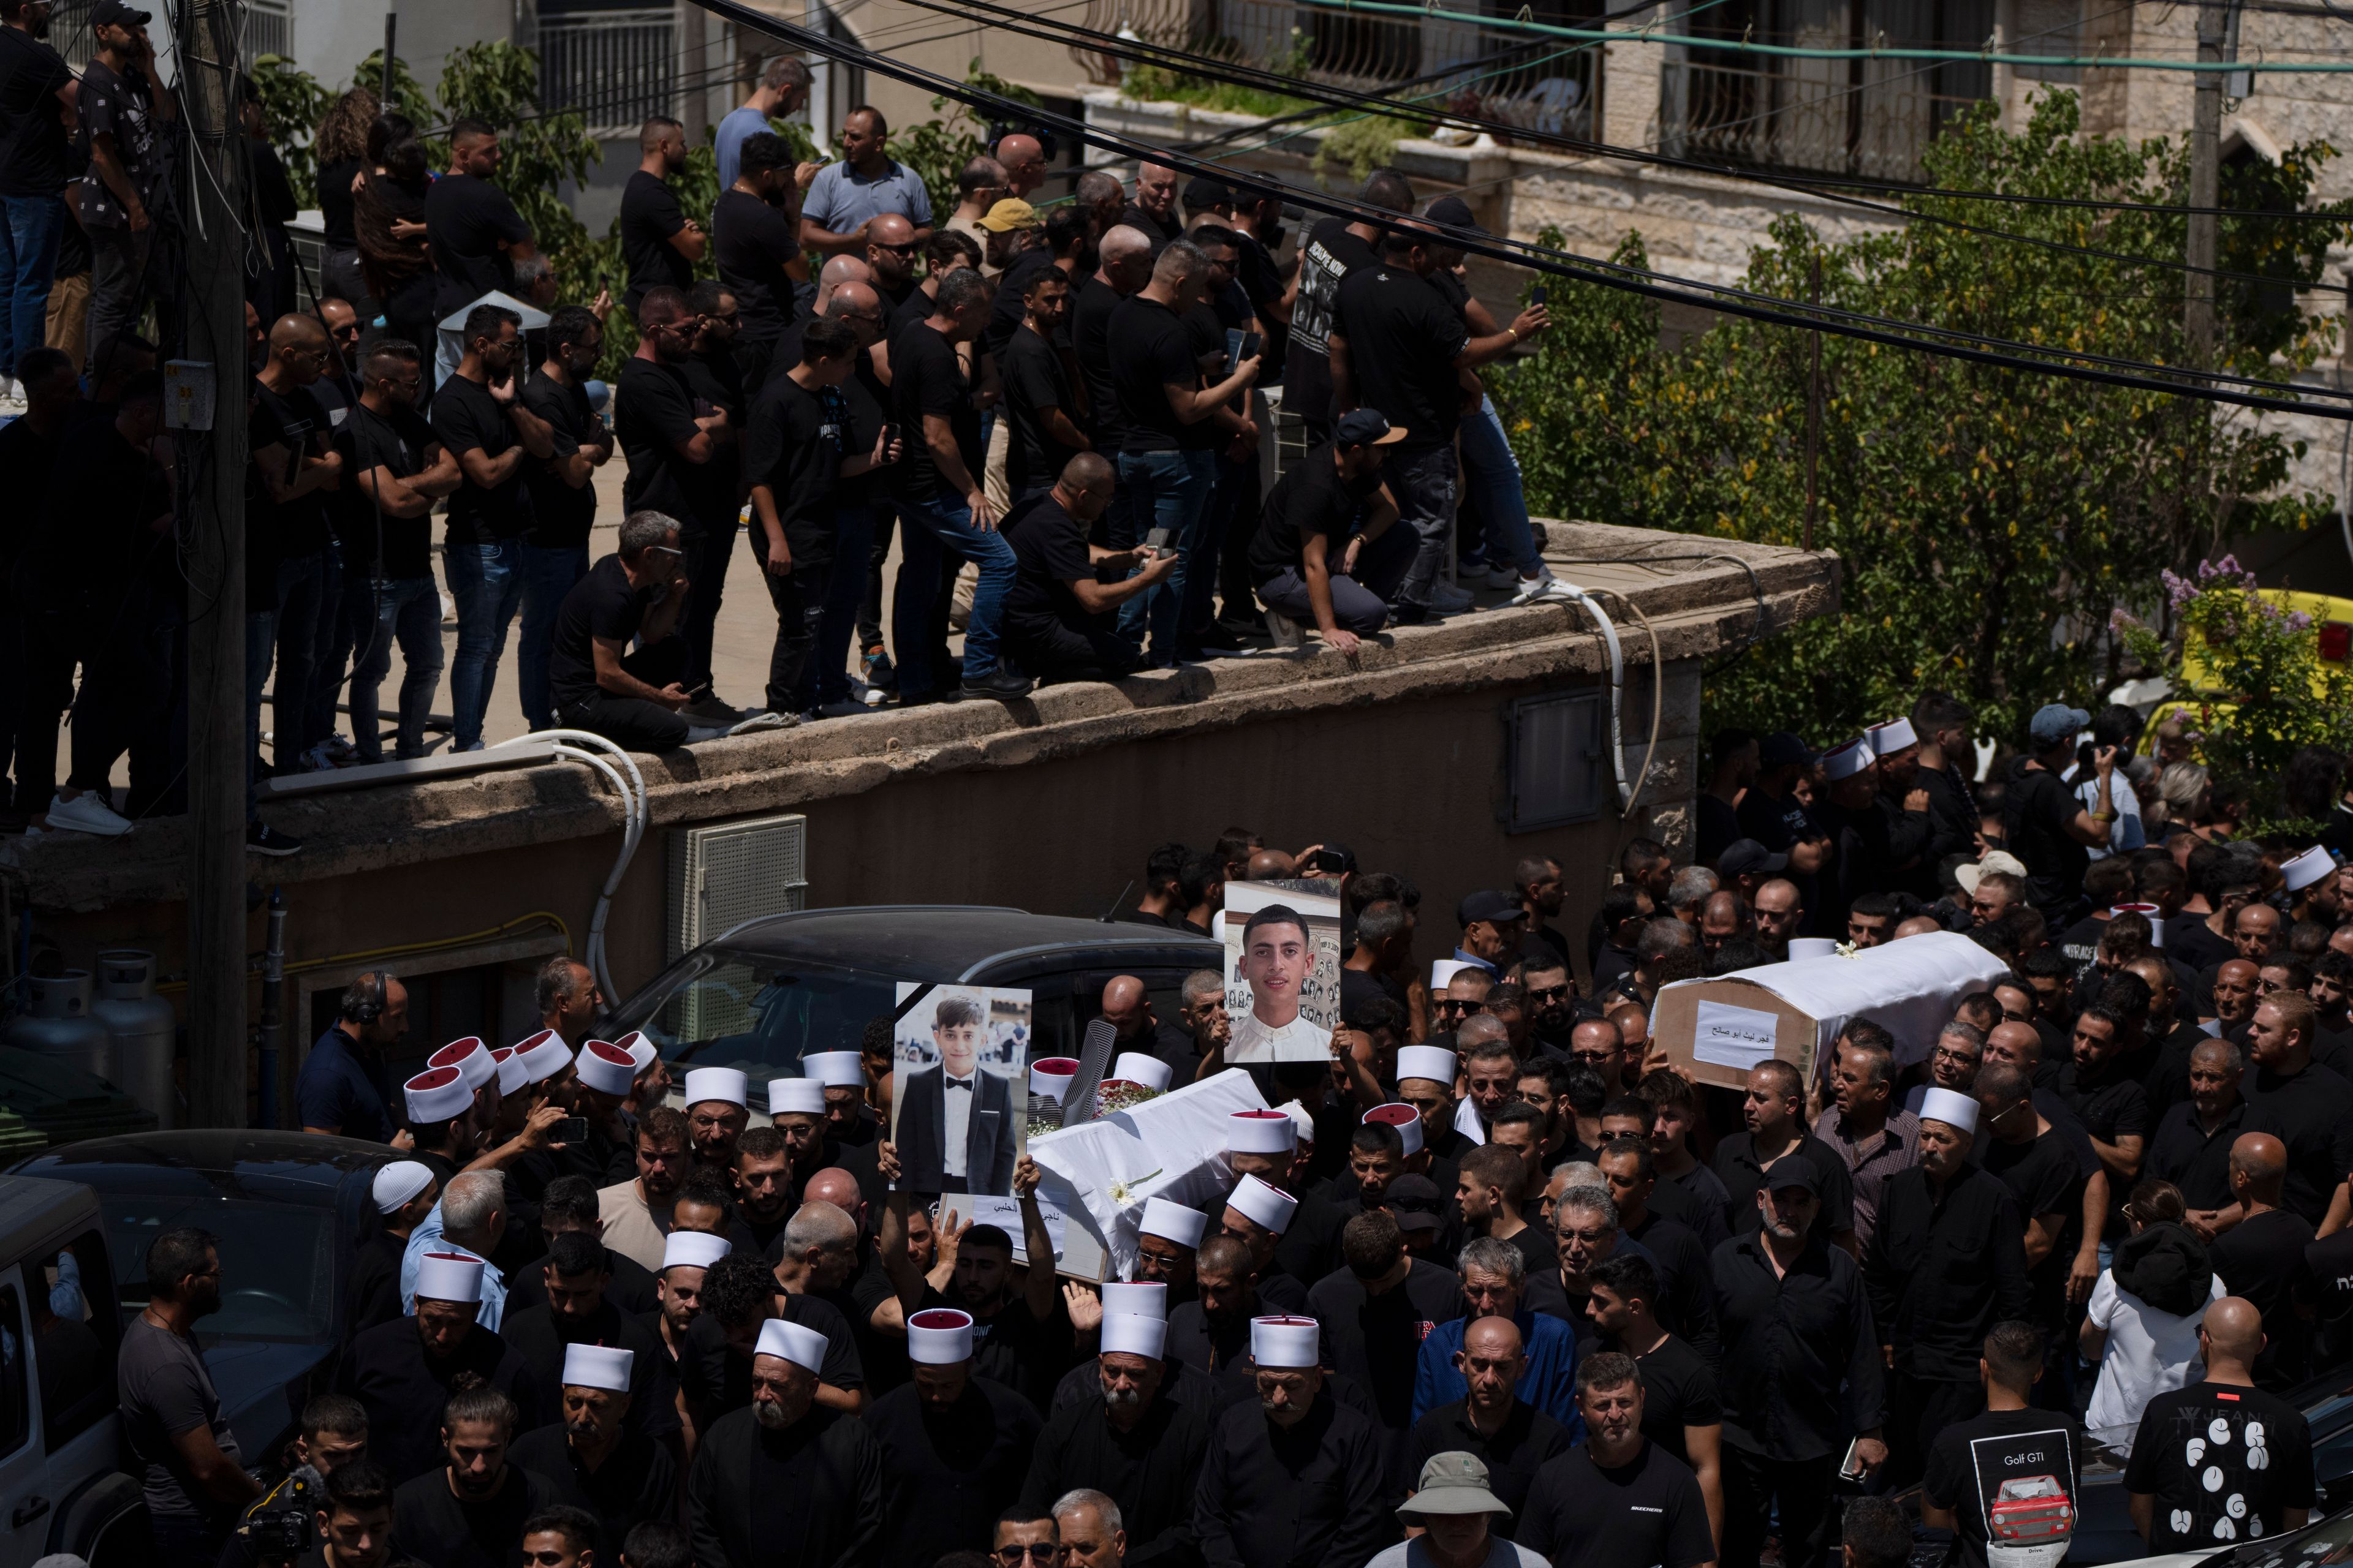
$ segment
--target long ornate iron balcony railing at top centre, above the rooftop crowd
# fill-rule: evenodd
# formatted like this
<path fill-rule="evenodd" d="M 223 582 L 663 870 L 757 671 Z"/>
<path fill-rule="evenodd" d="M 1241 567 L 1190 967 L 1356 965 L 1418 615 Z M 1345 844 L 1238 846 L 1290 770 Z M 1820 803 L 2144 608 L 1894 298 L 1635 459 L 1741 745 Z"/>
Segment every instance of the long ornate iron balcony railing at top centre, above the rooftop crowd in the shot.
<path fill-rule="evenodd" d="M 1518 14 L 1504 7 L 1497 14 Z M 1539 21 L 1586 26 L 1600 5 L 1539 5 Z M 1386 19 L 1282 5 L 1282 0 L 1089 0 L 1087 26 L 1129 28 L 1148 42 L 1217 54 L 1306 82 L 1409 96 L 1431 118 L 1475 113 L 1506 125 L 1588 136 L 1600 113 L 1600 52 L 1569 40 L 1501 31 L 1471 0 L 1449 0 L 1417 19 Z M 1073 45 L 1071 56 L 1101 85 L 1118 85 L 1118 61 Z"/>

